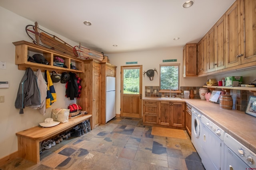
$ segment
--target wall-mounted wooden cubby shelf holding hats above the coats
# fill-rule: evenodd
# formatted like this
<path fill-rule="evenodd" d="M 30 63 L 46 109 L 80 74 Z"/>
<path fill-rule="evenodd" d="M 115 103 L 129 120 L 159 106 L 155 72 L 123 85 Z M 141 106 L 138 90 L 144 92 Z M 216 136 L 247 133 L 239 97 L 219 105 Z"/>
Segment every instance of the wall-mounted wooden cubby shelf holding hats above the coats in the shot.
<path fill-rule="evenodd" d="M 48 49 L 46 47 L 42 47 L 39 45 L 35 45 L 29 43 L 27 41 L 17 41 L 13 42 L 15 47 L 15 64 L 18 64 L 19 70 L 26 70 L 27 67 L 32 68 L 32 70 L 36 71 L 38 69 L 56 71 L 57 73 L 62 72 L 84 72 L 84 61 L 69 55 L 65 55 L 63 53 L 58 53 L 58 51 L 54 51 L 52 49 Z M 48 65 L 33 63 L 28 61 L 28 56 L 33 56 L 34 54 L 39 53 L 44 56 L 44 58 L 48 61 Z M 67 68 L 54 66 L 54 57 L 61 57 L 65 60 L 65 65 Z M 76 66 L 78 70 L 74 70 L 70 68 L 70 63 Z"/>

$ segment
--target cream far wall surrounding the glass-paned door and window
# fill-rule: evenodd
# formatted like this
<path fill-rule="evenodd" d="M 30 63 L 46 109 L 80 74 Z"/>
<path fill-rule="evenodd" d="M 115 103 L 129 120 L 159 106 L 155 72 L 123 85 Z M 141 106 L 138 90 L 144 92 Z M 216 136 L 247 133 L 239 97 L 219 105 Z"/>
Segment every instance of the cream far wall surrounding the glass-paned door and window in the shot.
<path fill-rule="evenodd" d="M 154 40 L 152 40 L 154 41 Z M 180 63 L 180 86 L 202 86 L 206 82 L 206 77 L 186 77 L 183 78 L 183 67 L 182 67 L 182 49 L 183 47 L 176 48 L 166 48 L 150 51 L 136 51 L 130 53 L 116 53 L 116 54 L 107 54 L 109 57 L 109 62 L 117 66 L 116 68 L 116 112 L 120 113 L 120 68 L 121 66 L 129 66 L 131 64 L 126 64 L 126 62 L 138 61 L 138 64 L 133 65 L 142 65 L 142 70 L 147 71 L 149 69 L 156 68 L 158 74 L 154 74 L 154 80 L 150 81 L 148 76 L 142 78 L 142 96 L 145 94 L 145 86 L 160 86 L 160 76 L 159 69 L 160 64 L 169 64 L 169 63 Z M 166 59 L 177 59 L 177 62 L 168 62 L 163 63 L 163 60 Z"/>

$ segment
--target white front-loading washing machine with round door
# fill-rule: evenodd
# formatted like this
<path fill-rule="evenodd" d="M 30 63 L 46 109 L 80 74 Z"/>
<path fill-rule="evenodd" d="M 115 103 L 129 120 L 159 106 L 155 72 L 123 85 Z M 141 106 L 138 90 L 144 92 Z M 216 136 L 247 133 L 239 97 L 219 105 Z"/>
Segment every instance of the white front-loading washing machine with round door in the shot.
<path fill-rule="evenodd" d="M 193 107 L 191 108 L 191 112 L 192 112 L 191 141 L 196 151 L 198 152 L 199 156 L 202 158 L 203 156 L 205 156 L 204 150 L 202 149 L 202 143 L 204 140 L 202 135 L 202 121 L 201 121 L 202 114 Z"/>

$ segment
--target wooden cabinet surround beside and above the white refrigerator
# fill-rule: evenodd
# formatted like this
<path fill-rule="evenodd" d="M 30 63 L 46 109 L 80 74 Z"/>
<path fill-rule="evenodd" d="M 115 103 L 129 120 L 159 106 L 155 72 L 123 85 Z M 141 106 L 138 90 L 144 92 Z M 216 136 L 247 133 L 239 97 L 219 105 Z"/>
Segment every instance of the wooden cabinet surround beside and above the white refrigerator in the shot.
<path fill-rule="evenodd" d="M 106 124 L 106 76 L 116 77 L 116 66 L 110 63 L 101 63 L 101 124 Z"/>

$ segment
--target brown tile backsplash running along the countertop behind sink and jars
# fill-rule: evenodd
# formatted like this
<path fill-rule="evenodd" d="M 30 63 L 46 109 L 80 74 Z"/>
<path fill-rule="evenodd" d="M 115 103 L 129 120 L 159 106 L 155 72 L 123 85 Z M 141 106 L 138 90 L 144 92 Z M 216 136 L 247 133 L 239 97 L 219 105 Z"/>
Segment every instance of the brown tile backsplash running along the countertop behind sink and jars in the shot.
<path fill-rule="evenodd" d="M 184 92 L 184 90 L 196 90 L 196 94 L 194 94 L 194 99 L 200 99 L 199 96 L 199 89 L 202 88 L 200 86 L 181 86 L 180 90 Z M 219 91 L 222 91 L 222 89 L 216 89 Z M 209 92 L 212 92 L 212 90 L 209 90 Z M 248 91 L 248 90 L 230 90 L 230 95 L 232 95 L 233 98 L 233 108 L 234 110 L 238 111 L 245 111 L 248 100 L 250 96 L 254 96 L 254 93 Z M 164 96 L 170 96 L 169 92 L 159 92 L 159 86 L 145 86 L 145 97 L 164 97 Z M 180 93 L 172 92 L 171 96 L 175 96 L 177 98 L 182 98 L 183 95 Z"/>

